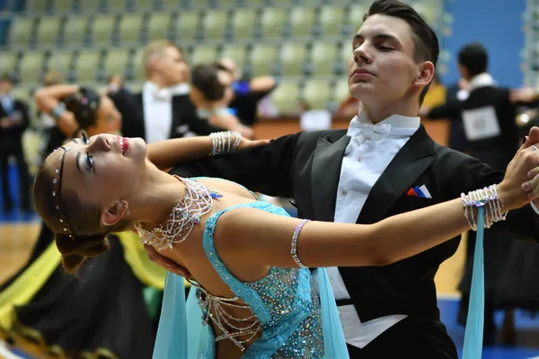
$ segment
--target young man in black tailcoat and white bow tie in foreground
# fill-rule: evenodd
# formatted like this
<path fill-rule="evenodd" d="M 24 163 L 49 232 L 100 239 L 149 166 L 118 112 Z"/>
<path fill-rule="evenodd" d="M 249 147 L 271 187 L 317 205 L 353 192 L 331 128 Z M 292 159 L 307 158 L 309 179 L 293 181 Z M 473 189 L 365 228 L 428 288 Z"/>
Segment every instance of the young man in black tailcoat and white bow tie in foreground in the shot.
<path fill-rule="evenodd" d="M 173 172 L 292 197 L 301 218 L 346 223 L 376 223 L 499 183 L 502 171 L 436 144 L 420 125 L 438 50 L 434 31 L 409 5 L 377 0 L 350 44 L 349 92 L 362 109 L 348 130 L 283 136 Z M 539 153 L 534 160 L 530 170 Z M 504 224 L 517 238 L 530 239 L 539 215 L 528 206 Z M 457 358 L 439 319 L 434 276 L 459 241 L 390 266 L 329 268 L 352 358 Z M 163 267 L 185 274 L 146 250 Z"/>

